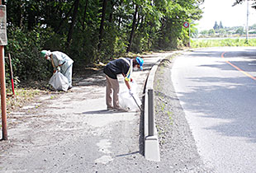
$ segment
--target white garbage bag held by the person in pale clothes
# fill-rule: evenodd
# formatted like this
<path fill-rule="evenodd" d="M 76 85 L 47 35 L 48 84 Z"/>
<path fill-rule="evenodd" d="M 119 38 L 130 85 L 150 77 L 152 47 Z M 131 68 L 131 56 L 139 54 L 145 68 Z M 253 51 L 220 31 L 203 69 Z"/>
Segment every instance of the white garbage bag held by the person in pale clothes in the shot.
<path fill-rule="evenodd" d="M 50 77 L 49 84 L 55 88 L 55 90 L 68 91 L 69 81 L 67 77 L 61 72 L 55 72 L 52 77 Z"/>

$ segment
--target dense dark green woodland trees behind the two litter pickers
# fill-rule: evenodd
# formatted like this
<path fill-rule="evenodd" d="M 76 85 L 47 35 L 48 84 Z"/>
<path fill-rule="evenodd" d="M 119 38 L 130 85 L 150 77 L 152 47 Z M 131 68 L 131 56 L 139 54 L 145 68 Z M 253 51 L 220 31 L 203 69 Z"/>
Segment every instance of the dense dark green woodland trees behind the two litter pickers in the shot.
<path fill-rule="evenodd" d="M 78 67 L 126 52 L 177 48 L 188 42 L 183 22 L 201 18 L 201 2 L 8 0 L 7 53 L 19 77 L 42 78 L 38 73 L 50 67 L 38 58 L 41 49 L 64 51 Z"/>

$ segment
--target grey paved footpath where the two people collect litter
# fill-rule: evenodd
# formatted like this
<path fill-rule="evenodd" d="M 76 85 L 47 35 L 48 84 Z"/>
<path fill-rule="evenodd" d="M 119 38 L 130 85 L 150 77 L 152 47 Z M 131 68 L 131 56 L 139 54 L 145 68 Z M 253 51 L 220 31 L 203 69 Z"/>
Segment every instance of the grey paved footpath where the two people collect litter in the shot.
<path fill-rule="evenodd" d="M 144 71 L 133 72 L 140 98 L 150 68 L 166 55 L 143 57 Z M 144 172 L 155 166 L 143 156 L 142 114 L 107 111 L 105 90 L 101 71 L 69 92 L 40 96 L 10 113 L 8 124 L 16 125 L 8 129 L 9 140 L 1 142 L 0 171 Z"/>

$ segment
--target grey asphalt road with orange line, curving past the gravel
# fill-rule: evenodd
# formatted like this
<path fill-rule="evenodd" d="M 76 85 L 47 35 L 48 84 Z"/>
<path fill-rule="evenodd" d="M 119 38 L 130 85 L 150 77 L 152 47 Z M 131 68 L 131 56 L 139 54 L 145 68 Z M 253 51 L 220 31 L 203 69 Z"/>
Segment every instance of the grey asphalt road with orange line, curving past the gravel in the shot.
<path fill-rule="evenodd" d="M 198 152 L 216 172 L 256 172 L 256 48 L 197 49 L 172 80 Z"/>

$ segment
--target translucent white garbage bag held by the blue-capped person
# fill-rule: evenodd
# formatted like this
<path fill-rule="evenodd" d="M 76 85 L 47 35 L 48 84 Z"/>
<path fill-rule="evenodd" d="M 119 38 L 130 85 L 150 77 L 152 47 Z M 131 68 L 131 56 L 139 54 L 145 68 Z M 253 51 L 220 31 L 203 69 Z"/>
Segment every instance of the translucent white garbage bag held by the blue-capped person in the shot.
<path fill-rule="evenodd" d="M 133 97 L 130 96 L 129 90 L 128 88 L 125 91 L 120 91 L 119 93 L 119 105 L 124 108 L 124 109 L 128 109 L 128 110 L 140 110 L 140 108 L 138 107 L 141 106 L 141 101 L 140 98 L 137 94 L 137 83 L 135 81 L 130 82 L 130 87 L 133 93 Z M 137 104 L 136 104 L 136 102 Z"/>

